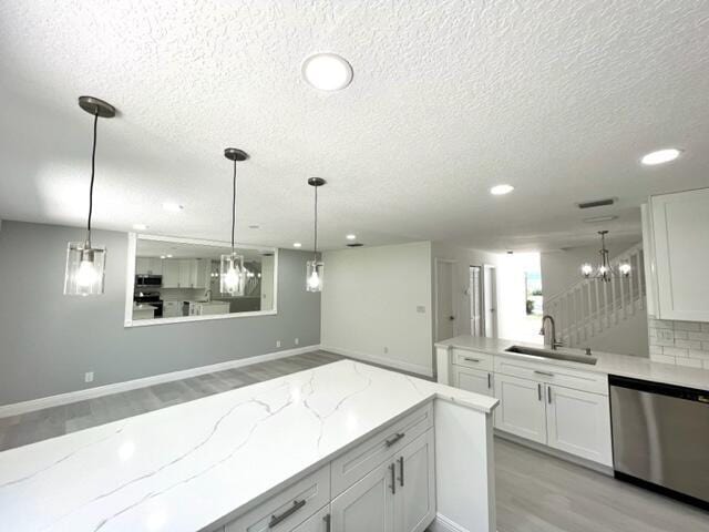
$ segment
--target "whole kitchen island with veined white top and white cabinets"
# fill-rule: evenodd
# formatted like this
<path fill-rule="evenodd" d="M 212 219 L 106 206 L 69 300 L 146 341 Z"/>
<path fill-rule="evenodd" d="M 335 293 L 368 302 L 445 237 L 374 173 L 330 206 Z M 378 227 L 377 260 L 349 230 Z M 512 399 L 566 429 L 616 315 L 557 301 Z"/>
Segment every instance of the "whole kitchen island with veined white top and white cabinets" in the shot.
<path fill-rule="evenodd" d="M 342 360 L 4 451 L 0 522 L 492 532 L 496 403 Z"/>

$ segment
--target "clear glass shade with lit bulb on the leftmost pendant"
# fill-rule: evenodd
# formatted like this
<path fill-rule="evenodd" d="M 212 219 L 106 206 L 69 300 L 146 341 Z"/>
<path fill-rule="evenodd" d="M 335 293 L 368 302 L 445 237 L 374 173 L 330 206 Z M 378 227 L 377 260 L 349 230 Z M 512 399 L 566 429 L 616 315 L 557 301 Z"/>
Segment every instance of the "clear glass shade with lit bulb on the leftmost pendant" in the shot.
<path fill-rule="evenodd" d="M 66 246 L 64 270 L 65 296 L 97 296 L 103 294 L 106 248 L 86 242 L 70 242 Z"/>

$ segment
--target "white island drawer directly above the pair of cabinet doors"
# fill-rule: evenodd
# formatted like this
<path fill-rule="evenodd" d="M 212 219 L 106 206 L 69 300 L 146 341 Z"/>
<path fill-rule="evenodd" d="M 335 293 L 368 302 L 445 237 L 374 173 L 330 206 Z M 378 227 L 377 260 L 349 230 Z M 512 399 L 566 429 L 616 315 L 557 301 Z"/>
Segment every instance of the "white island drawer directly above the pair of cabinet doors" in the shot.
<path fill-rule="evenodd" d="M 332 498 L 364 478 L 377 466 L 390 459 L 431 427 L 433 427 L 433 405 L 429 402 L 335 459 L 331 462 Z"/>

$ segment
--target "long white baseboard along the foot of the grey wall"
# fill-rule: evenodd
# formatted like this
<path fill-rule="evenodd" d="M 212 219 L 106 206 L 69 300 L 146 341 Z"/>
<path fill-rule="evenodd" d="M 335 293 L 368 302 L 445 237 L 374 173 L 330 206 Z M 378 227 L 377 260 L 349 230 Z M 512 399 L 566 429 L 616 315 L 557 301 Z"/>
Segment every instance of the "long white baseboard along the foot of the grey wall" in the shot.
<path fill-rule="evenodd" d="M 160 385 L 163 382 L 187 379 L 189 377 L 196 377 L 198 375 L 213 374 L 215 371 L 223 371 L 225 369 L 250 366 L 251 364 L 266 362 L 268 360 L 292 357 L 294 355 L 302 355 L 304 352 L 317 351 L 318 349 L 320 349 L 319 345 L 298 347 L 296 349 L 285 349 L 282 351 L 267 352 L 266 355 L 239 358 L 237 360 L 228 360 L 226 362 L 201 366 L 198 368 L 183 369 L 181 371 L 172 371 L 169 374 L 154 375 L 152 377 L 143 377 L 141 379 L 115 382 L 113 385 L 96 386 L 94 388 L 88 388 L 85 390 L 70 391 L 66 393 L 59 393 L 56 396 L 41 397 L 39 399 L 31 399 L 29 401 L 3 405 L 0 406 L 0 418 L 18 416 L 20 413 L 41 410 L 43 408 L 69 405 L 70 402 L 93 399 L 101 396 L 109 396 L 111 393 L 135 390 L 137 388 L 145 388 L 147 386 Z"/>

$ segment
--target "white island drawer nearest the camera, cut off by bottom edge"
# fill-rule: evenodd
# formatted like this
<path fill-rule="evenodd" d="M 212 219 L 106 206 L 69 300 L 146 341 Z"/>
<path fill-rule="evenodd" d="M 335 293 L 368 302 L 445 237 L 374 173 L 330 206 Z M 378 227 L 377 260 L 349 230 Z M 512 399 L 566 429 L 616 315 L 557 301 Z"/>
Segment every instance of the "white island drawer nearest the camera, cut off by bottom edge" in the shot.
<path fill-rule="evenodd" d="M 287 532 L 330 502 L 330 466 L 232 521 L 225 532 Z"/>

